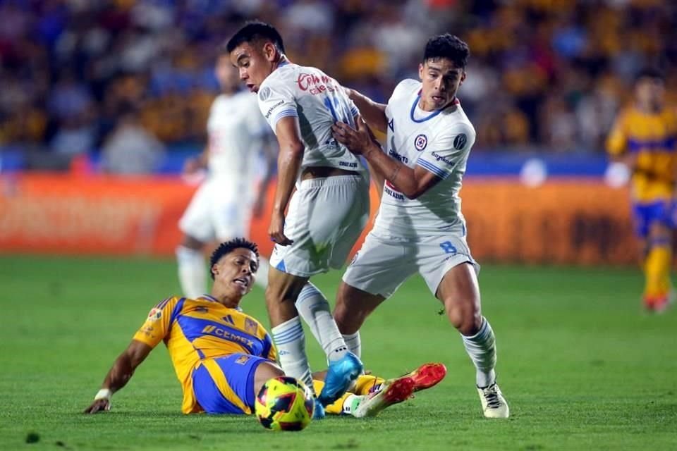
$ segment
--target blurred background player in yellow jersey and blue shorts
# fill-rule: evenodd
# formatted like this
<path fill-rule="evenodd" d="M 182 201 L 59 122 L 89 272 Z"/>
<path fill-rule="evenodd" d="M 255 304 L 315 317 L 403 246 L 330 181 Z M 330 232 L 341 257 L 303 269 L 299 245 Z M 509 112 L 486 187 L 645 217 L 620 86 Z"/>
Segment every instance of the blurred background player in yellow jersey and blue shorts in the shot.
<path fill-rule="evenodd" d="M 635 81 L 635 102 L 616 118 L 606 146 L 633 173 L 630 199 L 646 276 L 644 304 L 652 311 L 663 311 L 672 295 L 677 111 L 665 106 L 664 94 L 659 70 L 642 70 Z"/>

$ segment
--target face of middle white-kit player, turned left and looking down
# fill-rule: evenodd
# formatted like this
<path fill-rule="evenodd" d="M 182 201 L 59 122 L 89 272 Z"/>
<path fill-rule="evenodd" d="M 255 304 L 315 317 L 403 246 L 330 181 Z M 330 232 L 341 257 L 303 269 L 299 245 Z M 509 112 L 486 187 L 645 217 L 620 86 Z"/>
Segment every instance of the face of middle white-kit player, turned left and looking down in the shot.
<path fill-rule="evenodd" d="M 261 83 L 275 67 L 277 51 L 272 42 L 244 42 L 231 51 L 231 63 L 238 68 L 251 92 L 259 92 Z"/>

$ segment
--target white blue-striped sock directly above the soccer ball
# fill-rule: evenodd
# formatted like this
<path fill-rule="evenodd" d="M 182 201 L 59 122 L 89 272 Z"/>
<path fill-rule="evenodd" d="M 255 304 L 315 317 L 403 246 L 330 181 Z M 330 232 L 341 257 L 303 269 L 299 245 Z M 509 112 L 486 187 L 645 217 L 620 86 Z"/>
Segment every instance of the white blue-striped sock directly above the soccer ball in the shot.
<path fill-rule="evenodd" d="M 280 366 L 287 376 L 297 378 L 315 393 L 312 373 L 305 354 L 305 335 L 298 316 L 272 328 Z"/>

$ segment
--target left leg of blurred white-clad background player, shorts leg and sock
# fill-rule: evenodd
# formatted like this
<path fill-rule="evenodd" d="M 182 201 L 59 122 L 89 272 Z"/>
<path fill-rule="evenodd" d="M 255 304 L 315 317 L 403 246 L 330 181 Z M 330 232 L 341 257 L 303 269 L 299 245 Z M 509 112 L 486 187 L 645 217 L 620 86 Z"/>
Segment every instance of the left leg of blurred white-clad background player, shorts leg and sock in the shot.
<path fill-rule="evenodd" d="M 176 247 L 178 280 L 183 295 L 190 298 L 207 292 L 207 265 L 202 251 L 206 243 L 214 240 L 209 206 L 212 191 L 209 180 L 203 183 L 178 223 L 183 232 L 181 244 Z"/>

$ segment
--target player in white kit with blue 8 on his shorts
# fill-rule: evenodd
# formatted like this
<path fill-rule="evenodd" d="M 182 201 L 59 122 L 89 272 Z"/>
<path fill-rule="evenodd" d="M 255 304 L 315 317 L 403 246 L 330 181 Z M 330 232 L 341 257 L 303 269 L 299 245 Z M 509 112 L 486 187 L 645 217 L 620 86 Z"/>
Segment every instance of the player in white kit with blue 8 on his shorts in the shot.
<path fill-rule="evenodd" d="M 384 179 L 377 220 L 343 276 L 334 317 L 342 333 L 357 334 L 367 315 L 420 273 L 461 332 L 477 369 L 484 416 L 507 418 L 508 404 L 496 385 L 494 332 L 480 313 L 479 266 L 465 240 L 458 197 L 475 142 L 456 99 L 469 54 L 456 36 L 432 37 L 419 66 L 422 82 L 404 80 L 387 105 L 350 92 L 367 123 L 387 132 L 387 153 L 362 118 L 357 130 L 334 126 L 336 140 L 364 156 L 374 176 Z"/>

